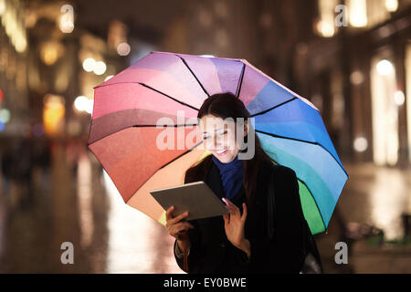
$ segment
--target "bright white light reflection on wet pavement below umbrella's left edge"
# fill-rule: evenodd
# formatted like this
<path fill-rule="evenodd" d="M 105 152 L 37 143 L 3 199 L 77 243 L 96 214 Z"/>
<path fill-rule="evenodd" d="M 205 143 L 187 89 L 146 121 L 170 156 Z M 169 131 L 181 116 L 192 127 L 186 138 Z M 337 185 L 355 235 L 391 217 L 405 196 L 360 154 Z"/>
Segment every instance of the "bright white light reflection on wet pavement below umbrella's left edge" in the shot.
<path fill-rule="evenodd" d="M 182 273 L 163 225 L 124 203 L 107 172 L 103 179 L 110 198 L 107 272 Z"/>

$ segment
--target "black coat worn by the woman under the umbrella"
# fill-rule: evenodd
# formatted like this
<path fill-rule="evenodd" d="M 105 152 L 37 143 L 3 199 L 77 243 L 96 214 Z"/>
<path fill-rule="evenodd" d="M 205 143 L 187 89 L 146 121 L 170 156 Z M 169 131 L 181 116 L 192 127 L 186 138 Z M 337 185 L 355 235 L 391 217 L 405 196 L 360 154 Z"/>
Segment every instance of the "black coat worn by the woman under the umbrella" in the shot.
<path fill-rule="evenodd" d="M 269 175 L 274 174 L 275 214 L 273 239 L 268 236 Z M 248 216 L 245 237 L 251 246 L 251 256 L 232 245 L 226 235 L 223 216 L 191 220 L 195 226 L 188 232 L 191 248 L 188 273 L 299 273 L 304 262 L 305 220 L 302 214 L 296 174 L 290 168 L 272 163 L 261 167 L 258 175 L 256 202 L 251 209 L 244 186 L 232 200 L 242 214 L 242 203 L 247 203 Z M 224 196 L 220 173 L 214 162 L 204 180 L 219 198 Z M 188 182 L 187 179 L 184 183 Z M 311 236 L 311 234 L 310 234 Z M 174 247 L 176 241 L 174 242 Z M 175 260 L 183 269 L 183 258 Z"/>

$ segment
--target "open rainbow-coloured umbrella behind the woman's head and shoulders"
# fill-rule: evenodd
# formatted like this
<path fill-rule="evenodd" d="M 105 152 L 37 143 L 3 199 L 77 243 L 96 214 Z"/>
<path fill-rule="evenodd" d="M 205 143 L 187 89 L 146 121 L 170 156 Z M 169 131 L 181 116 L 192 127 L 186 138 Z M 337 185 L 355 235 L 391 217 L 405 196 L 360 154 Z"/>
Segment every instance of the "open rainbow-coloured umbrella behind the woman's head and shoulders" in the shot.
<path fill-rule="evenodd" d="M 199 131 L 184 139 L 197 127 L 192 120 L 203 101 L 227 91 L 246 105 L 269 156 L 296 172 L 311 233 L 326 230 L 348 174 L 319 110 L 245 59 L 142 57 L 94 89 L 88 147 L 124 202 L 165 224 L 165 210 L 149 191 L 184 183 L 184 172 L 211 155 Z M 172 150 L 158 147 L 164 130 L 174 137 Z"/>

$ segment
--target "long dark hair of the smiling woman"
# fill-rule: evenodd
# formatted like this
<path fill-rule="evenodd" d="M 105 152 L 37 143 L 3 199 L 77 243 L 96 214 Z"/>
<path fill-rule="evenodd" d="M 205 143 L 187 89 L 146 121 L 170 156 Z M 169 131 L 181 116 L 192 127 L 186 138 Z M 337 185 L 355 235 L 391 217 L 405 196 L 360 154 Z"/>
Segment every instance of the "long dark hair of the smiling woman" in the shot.
<path fill-rule="evenodd" d="M 244 118 L 244 120 L 251 118 L 244 103 L 231 92 L 217 93 L 205 99 L 200 110 L 198 110 L 197 118 L 201 119 L 205 115 L 214 115 L 223 120 L 227 118 L 234 120 L 236 120 L 236 118 Z M 250 127 L 252 127 L 252 125 L 248 122 L 248 130 Z M 249 132 L 250 131 L 248 131 L 248 135 Z M 257 189 L 258 170 L 264 169 L 263 165 L 267 165 L 265 163 L 272 163 L 274 161 L 262 149 L 255 131 L 253 130 L 251 132 L 255 136 L 255 153 L 252 159 L 243 160 L 242 162 L 244 165 L 244 187 L 246 189 L 248 203 L 252 206 L 254 204 L 254 194 Z M 244 137 L 246 143 L 248 141 L 248 135 Z M 247 151 L 247 149 L 245 151 Z M 207 155 L 202 162 L 198 162 L 190 167 L 185 172 L 185 181 L 193 182 L 201 177 L 205 179 L 205 175 L 213 163 L 212 156 L 213 154 Z"/>

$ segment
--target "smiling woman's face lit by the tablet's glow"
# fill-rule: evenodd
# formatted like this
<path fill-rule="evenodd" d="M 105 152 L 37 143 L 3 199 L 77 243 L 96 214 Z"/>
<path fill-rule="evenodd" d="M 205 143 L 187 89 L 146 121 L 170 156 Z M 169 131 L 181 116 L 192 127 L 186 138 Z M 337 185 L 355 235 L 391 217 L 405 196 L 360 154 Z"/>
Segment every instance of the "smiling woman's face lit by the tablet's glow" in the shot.
<path fill-rule="evenodd" d="M 247 135 L 247 120 L 241 131 L 241 140 Z M 214 115 L 205 115 L 200 119 L 200 130 L 205 149 L 211 151 L 223 163 L 232 162 L 238 154 L 239 148 L 236 138 L 236 120 L 223 120 Z"/>

